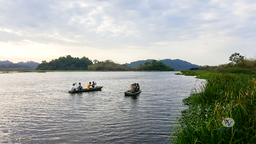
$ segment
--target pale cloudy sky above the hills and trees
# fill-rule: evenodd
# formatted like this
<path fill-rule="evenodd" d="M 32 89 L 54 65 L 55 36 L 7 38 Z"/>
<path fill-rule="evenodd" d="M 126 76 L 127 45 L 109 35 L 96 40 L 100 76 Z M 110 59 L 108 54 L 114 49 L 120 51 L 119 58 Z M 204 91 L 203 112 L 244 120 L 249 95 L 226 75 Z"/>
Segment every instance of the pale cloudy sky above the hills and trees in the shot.
<path fill-rule="evenodd" d="M 0 60 L 201 66 L 256 56 L 255 0 L 0 0 Z"/>

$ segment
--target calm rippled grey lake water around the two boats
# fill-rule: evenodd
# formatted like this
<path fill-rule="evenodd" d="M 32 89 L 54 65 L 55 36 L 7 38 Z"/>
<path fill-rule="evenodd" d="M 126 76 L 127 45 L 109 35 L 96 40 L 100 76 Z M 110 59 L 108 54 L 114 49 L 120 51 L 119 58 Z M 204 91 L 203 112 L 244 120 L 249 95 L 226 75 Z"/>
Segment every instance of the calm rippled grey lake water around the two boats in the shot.
<path fill-rule="evenodd" d="M 0 74 L 0 143 L 164 144 L 197 80 L 174 73 Z M 102 90 L 68 93 L 92 81 Z M 135 82 L 142 92 L 124 96 Z"/>

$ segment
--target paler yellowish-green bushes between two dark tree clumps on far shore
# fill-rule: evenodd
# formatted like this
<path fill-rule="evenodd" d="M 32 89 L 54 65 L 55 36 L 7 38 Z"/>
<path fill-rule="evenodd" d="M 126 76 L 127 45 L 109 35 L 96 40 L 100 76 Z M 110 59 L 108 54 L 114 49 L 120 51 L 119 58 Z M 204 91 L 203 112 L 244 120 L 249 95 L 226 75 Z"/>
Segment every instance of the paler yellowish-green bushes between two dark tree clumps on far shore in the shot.
<path fill-rule="evenodd" d="M 130 67 L 124 64 L 118 64 L 113 62 L 112 60 L 105 60 L 102 62 L 98 62 L 98 60 L 94 60 L 94 64 L 88 66 L 88 70 L 131 70 Z"/>

